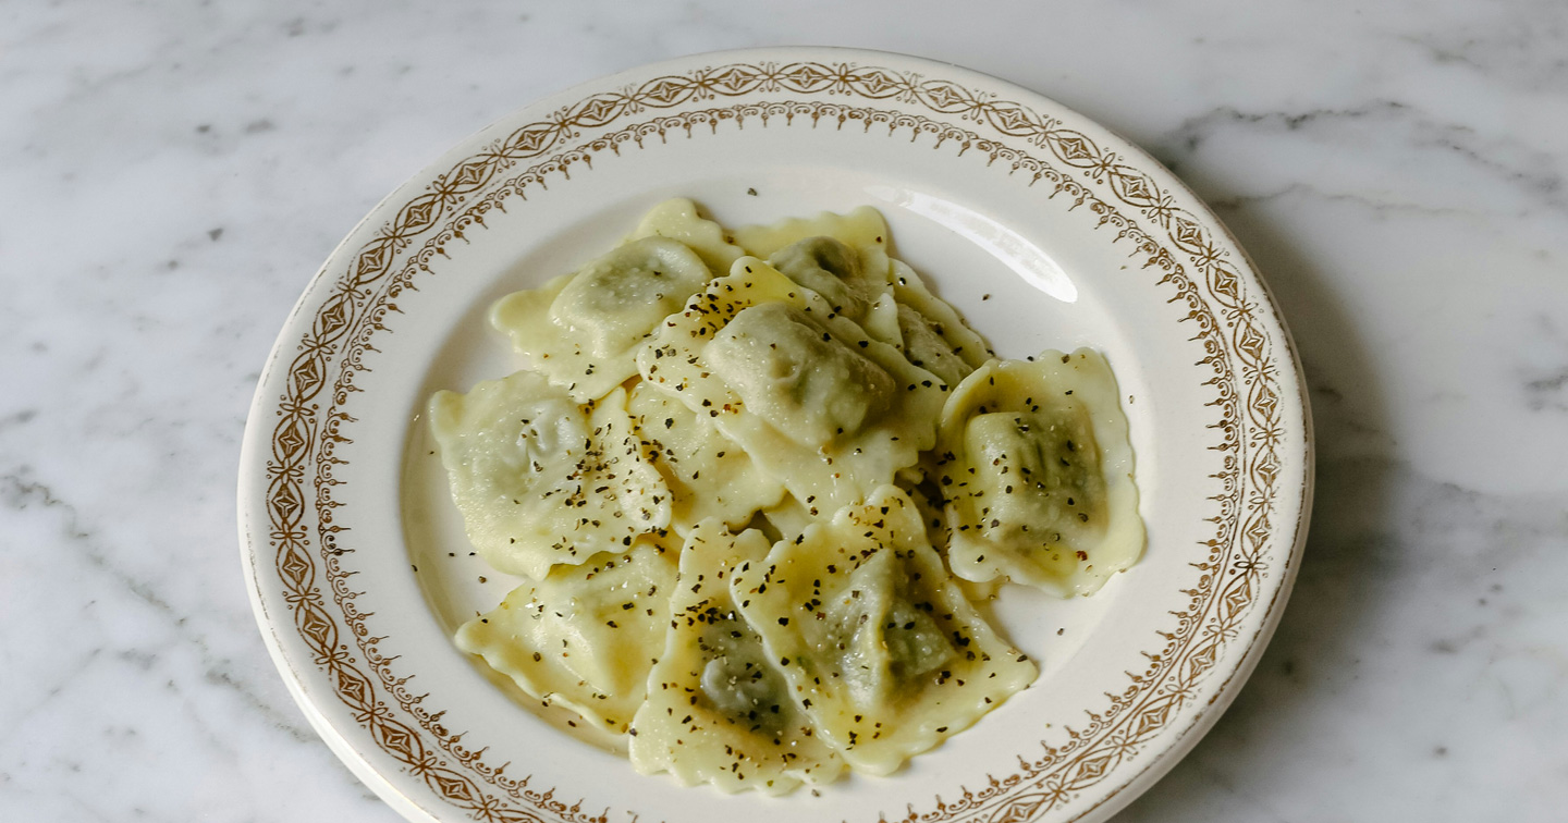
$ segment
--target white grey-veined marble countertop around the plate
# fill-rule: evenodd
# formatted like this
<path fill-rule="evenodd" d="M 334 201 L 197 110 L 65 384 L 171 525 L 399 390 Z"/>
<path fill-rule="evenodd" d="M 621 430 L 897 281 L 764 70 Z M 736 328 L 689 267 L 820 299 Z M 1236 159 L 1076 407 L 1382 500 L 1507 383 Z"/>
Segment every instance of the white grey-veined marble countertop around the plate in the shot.
<path fill-rule="evenodd" d="M 0 820 L 392 821 L 240 578 L 278 328 L 486 122 L 790 42 L 960 63 L 1120 130 L 1218 210 L 1297 337 L 1319 484 L 1295 596 L 1118 820 L 1562 820 L 1568 6 L 0 6 Z"/>

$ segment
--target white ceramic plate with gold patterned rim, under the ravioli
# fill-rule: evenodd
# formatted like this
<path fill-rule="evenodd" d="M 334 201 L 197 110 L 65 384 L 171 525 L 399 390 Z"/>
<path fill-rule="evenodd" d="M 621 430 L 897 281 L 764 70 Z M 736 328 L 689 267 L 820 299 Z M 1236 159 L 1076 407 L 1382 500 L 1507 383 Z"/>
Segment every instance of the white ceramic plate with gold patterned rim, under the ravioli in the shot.
<path fill-rule="evenodd" d="M 641 210 L 721 223 L 870 204 L 1005 357 L 1102 350 L 1126 393 L 1145 560 L 1077 600 L 1008 586 L 994 618 L 1040 680 L 891 778 L 787 798 L 640 776 L 459 654 L 511 588 L 469 557 L 417 420 L 516 368 L 483 321 Z M 1010 83 L 836 49 L 699 55 L 485 129 L 361 223 L 267 364 L 240 536 L 273 658 L 321 737 L 409 820 L 1102 820 L 1240 688 L 1278 622 L 1311 497 L 1290 339 L 1179 180 Z"/>

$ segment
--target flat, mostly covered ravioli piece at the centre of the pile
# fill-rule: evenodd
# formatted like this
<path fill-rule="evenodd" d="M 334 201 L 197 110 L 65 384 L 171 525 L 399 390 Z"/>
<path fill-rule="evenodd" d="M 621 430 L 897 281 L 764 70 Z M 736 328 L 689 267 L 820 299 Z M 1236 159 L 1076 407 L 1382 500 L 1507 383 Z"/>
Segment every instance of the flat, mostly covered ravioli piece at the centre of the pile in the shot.
<path fill-rule="evenodd" d="M 709 417 L 638 382 L 627 403 L 644 459 L 670 488 L 671 525 L 685 533 L 698 520 L 718 517 L 732 527 L 784 497 L 784 484 L 724 437 Z"/>

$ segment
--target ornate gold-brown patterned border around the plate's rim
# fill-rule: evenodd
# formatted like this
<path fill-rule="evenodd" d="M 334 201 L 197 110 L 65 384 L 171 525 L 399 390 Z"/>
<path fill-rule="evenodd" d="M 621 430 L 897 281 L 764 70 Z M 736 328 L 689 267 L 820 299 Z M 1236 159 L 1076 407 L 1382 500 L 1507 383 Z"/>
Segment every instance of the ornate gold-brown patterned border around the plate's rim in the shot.
<path fill-rule="evenodd" d="M 1159 241 L 1143 232 L 1115 207 L 1090 193 L 1088 187 L 1062 172 L 1051 163 L 1027 152 L 982 138 L 966 129 L 955 127 L 925 116 L 898 111 L 858 108 L 822 102 L 771 102 L 742 103 L 728 108 L 707 108 L 652 118 L 590 140 L 575 149 L 550 155 L 530 166 L 522 174 L 502 180 L 481 196 L 497 177 L 519 161 L 543 157 L 557 146 L 580 138 L 583 130 L 602 129 L 629 114 L 654 108 L 673 108 L 691 100 L 735 97 L 757 91 L 782 91 L 793 94 L 828 94 L 861 99 L 895 99 L 903 103 L 919 103 L 938 114 L 953 114 L 960 121 L 989 125 L 1004 135 L 1024 138 L 1027 144 L 1049 149 L 1051 155 L 1079 176 L 1105 187 L 1112 196 L 1165 230 L 1171 245 L 1182 251 L 1200 273 L 1209 299 L 1185 274 Z M 596 152 L 619 152 L 621 146 L 641 141 L 649 135 L 663 136 L 673 130 L 688 135 L 698 125 L 718 127 L 720 122 L 740 124 L 746 118 L 781 116 L 792 122 L 797 116 L 809 116 L 812 122 L 828 119 L 839 127 L 861 122 L 889 127 L 889 135 L 900 129 L 913 132 L 911 140 L 922 133 L 933 135 L 938 146 L 955 141 L 960 152 L 971 149 L 985 152 L 989 163 L 1008 163 L 1010 171 L 1032 174 L 1030 185 L 1038 180 L 1054 183 L 1052 198 L 1066 193 L 1073 208 L 1088 205 L 1099 215 L 1101 226 L 1113 226 L 1118 234 L 1113 241 L 1132 238 L 1137 248 L 1148 254 L 1146 266 L 1163 271 L 1159 285 L 1176 290 L 1173 301 L 1189 306 L 1189 315 L 1196 324 L 1206 351 L 1200 365 L 1209 365 L 1214 378 L 1215 400 L 1220 412 L 1214 423 L 1220 436 L 1214 448 L 1225 453 L 1225 470 L 1215 475 L 1223 484 L 1223 494 L 1215 495 L 1218 516 L 1215 538 L 1207 541 L 1209 557 L 1196 564 L 1200 583 L 1187 591 L 1190 605 L 1176 615 L 1176 630 L 1162 632 L 1165 647 L 1149 655 L 1149 665 L 1142 674 L 1131 674 L 1131 685 L 1110 696 L 1110 707 L 1090 713 L 1090 724 L 1069 731 L 1062 746 L 1046 748 L 1038 760 L 1021 760 L 1021 771 L 1004 779 L 991 779 L 978 792 L 966 790 L 956 801 L 938 798 L 933 810 L 919 814 L 913 807 L 906 821 L 947 821 L 960 817 L 969 820 L 1033 820 L 1047 809 L 1066 803 L 1071 796 L 1102 782 L 1116 767 L 1137 756 L 1138 749 L 1159 734 L 1196 694 L 1198 680 L 1207 674 L 1220 657 L 1220 651 L 1237 635 L 1237 627 L 1256 605 L 1258 585 L 1265 571 L 1262 555 L 1272 536 L 1269 516 L 1275 506 L 1279 469 L 1278 445 L 1283 437 L 1278 397 L 1278 364 L 1273 345 L 1258 323 L 1258 303 L 1245 293 L 1245 281 L 1228 260 L 1218 243 L 1207 235 L 1201 221 L 1178 208 L 1174 198 L 1162 191 L 1146 174 L 1124 165 L 1115 152 L 1099 149 L 1088 136 L 1063 129 L 1057 121 L 1041 118 L 1021 103 L 996 100 L 994 96 L 971 91 L 947 80 L 924 80 L 919 75 L 900 74 L 881 67 L 858 67 L 853 64 L 793 63 L 793 64 L 731 64 L 707 67 L 685 75 L 668 75 L 649 80 L 637 88 L 618 92 L 596 94 L 552 118 L 524 125 L 505 140 L 489 144 L 485 150 L 453 165 L 437 176 L 423 194 L 398 208 L 397 216 L 376 232 L 354 256 L 348 271 L 339 276 L 328 298 L 317 309 L 309 332 L 298 345 L 298 354 L 289 367 L 285 393 L 279 398 L 279 422 L 273 431 L 273 459 L 267 464 L 268 516 L 271 519 L 270 542 L 276 552 L 274 566 L 284 583 L 284 597 L 295 616 L 301 638 L 314 651 L 314 660 L 326 669 L 334 693 L 353 710 L 358 723 L 370 731 L 372 740 L 394 759 L 417 774 L 439 796 L 461 807 L 478 820 L 519 821 L 544 820 L 539 814 L 557 820 L 583 823 L 604 820 L 604 815 L 588 815 L 580 804 L 568 806 L 554 799 L 550 792 L 535 792 L 527 779 L 511 781 L 502 770 L 481 762 L 480 754 L 461 746 L 463 734 L 452 734 L 441 726 L 441 713 L 428 712 L 420 704 L 422 696 L 408 691 L 408 677 L 390 671 L 390 660 L 383 657 L 372 636 L 365 618 L 354 607 L 354 593 L 348 574 L 339 564 L 339 557 L 351 549 L 339 546 L 342 527 L 332 524 L 332 511 L 339 502 L 332 489 L 340 481 L 332 478 L 332 467 L 343 461 L 336 456 L 337 445 L 350 442 L 342 433 L 353 419 L 342 411 L 348 397 L 356 392 L 354 375 L 365 370 L 364 357 L 373 334 L 387 331 L 387 312 L 397 312 L 390 299 L 403 288 L 412 287 L 416 271 L 428 271 L 428 262 L 442 254 L 453 238 L 461 238 L 472 224 L 483 224 L 489 208 L 513 194 L 522 196 L 525 187 L 544 183 L 554 172 L 566 172 L 572 163 L 591 163 Z M 478 198 L 455 219 L 441 226 L 445 215 L 455 212 L 470 198 Z M 436 230 L 439 227 L 439 230 Z M 392 277 L 395 257 L 416 240 L 436 230 L 411 262 Z M 372 288 L 375 287 L 375 288 Z M 332 361 L 339 361 L 339 375 L 332 382 L 328 408 L 320 408 L 318 398 L 326 387 L 326 375 Z M 1247 397 L 1236 392 L 1232 359 L 1240 365 Z M 1242 417 L 1245 403 L 1245 419 Z M 1242 436 L 1242 430 L 1247 436 Z M 315 448 L 312 448 L 315 444 Z M 315 583 L 315 564 L 309 553 L 309 527 L 304 520 L 304 486 L 309 478 L 309 462 L 315 462 L 315 513 L 321 560 L 332 597 L 343 621 L 354 635 L 361 654 L 376 673 L 383 690 L 398 707 L 411 715 L 433 738 L 436 748 L 447 752 L 445 760 L 420 732 L 395 716 L 394 710 L 378 698 L 375 682 L 356 665 L 347 643 L 342 643 L 339 627 L 326 610 L 323 593 Z M 1237 539 L 1240 538 L 1240 539 Z M 466 774 L 467 773 L 467 774 Z M 486 792 L 474 778 L 500 789 L 506 796 L 525 803 L 514 807 L 502 796 Z"/>

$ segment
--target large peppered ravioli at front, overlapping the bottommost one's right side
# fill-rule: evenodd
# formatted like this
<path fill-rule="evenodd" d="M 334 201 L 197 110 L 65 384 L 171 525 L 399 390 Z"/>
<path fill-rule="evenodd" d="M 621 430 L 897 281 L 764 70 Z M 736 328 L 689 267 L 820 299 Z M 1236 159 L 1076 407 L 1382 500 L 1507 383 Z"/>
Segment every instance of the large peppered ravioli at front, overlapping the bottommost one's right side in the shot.
<path fill-rule="evenodd" d="M 817 734 L 872 774 L 969 727 L 1038 674 L 949 582 L 894 486 L 742 563 L 729 588 Z"/>

